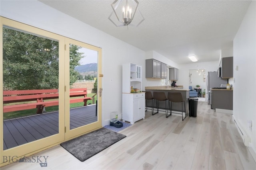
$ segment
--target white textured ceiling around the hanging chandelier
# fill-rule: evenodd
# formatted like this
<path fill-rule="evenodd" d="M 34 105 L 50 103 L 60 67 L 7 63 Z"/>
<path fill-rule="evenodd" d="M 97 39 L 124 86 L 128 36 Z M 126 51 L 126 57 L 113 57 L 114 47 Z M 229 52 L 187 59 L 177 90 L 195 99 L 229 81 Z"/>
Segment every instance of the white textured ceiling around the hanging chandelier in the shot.
<path fill-rule="evenodd" d="M 127 29 L 108 20 L 114 0 L 40 1 L 143 51 L 156 51 L 179 64 L 191 63 L 188 55 L 195 55 L 198 62 L 218 61 L 221 49 L 232 48 L 251 2 L 139 0 L 138 8 L 145 20 L 138 27 Z"/>

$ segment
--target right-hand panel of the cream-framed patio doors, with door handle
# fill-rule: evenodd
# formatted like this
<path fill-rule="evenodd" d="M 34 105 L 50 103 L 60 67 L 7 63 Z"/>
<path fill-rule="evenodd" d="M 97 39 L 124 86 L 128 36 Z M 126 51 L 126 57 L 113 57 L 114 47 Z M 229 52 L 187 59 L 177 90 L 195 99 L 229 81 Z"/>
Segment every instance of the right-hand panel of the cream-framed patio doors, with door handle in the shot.
<path fill-rule="evenodd" d="M 65 39 L 66 51 L 65 51 L 65 74 L 70 75 L 65 79 L 66 93 L 65 98 L 69 100 L 65 101 L 65 139 L 69 139 L 80 135 L 84 132 L 92 131 L 101 127 L 101 49 L 93 45 L 75 41 L 73 39 Z M 79 54 L 80 66 L 76 69 L 77 72 L 82 74 L 82 81 L 70 85 L 70 79 L 73 78 L 72 64 L 74 60 L 72 51 L 77 51 Z M 75 61 L 76 62 L 76 61 Z M 70 69 L 69 69 L 70 68 Z M 86 73 L 90 74 L 86 74 Z M 86 78 L 87 77 L 87 78 Z M 89 78 L 90 77 L 90 78 Z M 92 81 L 88 80 L 92 79 Z M 94 88 L 92 88 L 92 84 Z M 71 93 L 72 89 L 86 88 L 88 100 L 87 104 L 82 102 L 82 107 L 72 107 Z M 89 95 L 90 94 L 90 95 Z M 100 113 L 100 114 L 98 114 Z"/>

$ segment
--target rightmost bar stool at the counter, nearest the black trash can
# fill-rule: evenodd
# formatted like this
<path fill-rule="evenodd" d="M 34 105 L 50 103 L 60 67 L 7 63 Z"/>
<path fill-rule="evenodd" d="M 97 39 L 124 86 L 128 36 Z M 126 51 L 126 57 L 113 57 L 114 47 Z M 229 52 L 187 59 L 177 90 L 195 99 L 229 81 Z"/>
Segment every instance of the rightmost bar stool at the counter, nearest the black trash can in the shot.
<path fill-rule="evenodd" d="M 172 102 L 175 103 L 180 103 L 181 102 L 181 113 L 177 113 L 177 114 L 182 114 L 182 121 L 187 117 L 188 114 L 186 114 L 186 106 L 185 106 L 185 100 L 182 98 L 182 94 L 180 92 L 168 92 L 168 108 L 170 108 L 170 115 L 172 115 Z M 170 104 L 171 102 L 171 104 Z M 182 104 L 184 102 L 184 109 L 185 109 L 185 117 L 183 119 L 183 107 Z M 166 118 L 169 117 L 170 115 L 168 115 L 168 111 L 166 113 Z"/>

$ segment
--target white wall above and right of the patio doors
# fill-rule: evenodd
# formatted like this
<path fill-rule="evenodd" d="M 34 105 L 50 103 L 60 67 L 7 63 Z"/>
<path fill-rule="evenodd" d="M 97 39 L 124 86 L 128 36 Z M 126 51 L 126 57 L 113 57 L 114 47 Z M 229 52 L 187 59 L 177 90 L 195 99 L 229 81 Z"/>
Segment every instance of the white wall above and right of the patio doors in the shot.
<path fill-rule="evenodd" d="M 3 17 L 102 47 L 102 73 L 100 73 L 104 74 L 102 125 L 109 124 L 110 112 L 122 113 L 122 64 L 136 61 L 136 64 L 145 68 L 144 51 L 39 1 L 0 1 L 0 3 L 0 15 Z M 145 72 L 142 72 L 142 77 L 145 77 Z"/>

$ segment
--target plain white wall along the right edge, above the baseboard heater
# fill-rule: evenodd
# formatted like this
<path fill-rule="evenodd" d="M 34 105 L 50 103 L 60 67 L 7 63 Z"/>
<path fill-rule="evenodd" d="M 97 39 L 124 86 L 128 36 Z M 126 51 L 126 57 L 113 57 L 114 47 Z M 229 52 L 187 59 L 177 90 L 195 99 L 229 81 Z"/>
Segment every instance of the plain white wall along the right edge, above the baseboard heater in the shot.
<path fill-rule="evenodd" d="M 233 41 L 233 114 L 251 138 L 256 152 L 256 2 L 252 1 Z M 238 70 L 236 70 L 238 66 Z M 252 121 L 252 131 L 247 127 Z M 254 157 L 255 158 L 255 157 Z"/>

